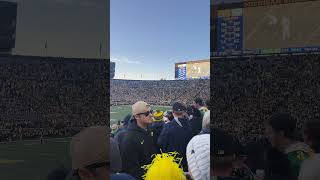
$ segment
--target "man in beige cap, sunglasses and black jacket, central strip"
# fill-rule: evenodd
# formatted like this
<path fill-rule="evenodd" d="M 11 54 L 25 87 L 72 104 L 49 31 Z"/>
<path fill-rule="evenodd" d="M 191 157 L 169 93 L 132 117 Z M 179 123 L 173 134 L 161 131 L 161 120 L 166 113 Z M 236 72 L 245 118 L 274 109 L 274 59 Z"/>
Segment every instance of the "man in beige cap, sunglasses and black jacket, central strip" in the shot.
<path fill-rule="evenodd" d="M 129 123 L 125 136 L 120 144 L 123 171 L 142 179 L 141 168 L 150 164 L 151 156 L 156 153 L 152 133 L 147 128 L 152 123 L 152 110 L 149 104 L 138 101 L 132 106 L 132 122 Z"/>

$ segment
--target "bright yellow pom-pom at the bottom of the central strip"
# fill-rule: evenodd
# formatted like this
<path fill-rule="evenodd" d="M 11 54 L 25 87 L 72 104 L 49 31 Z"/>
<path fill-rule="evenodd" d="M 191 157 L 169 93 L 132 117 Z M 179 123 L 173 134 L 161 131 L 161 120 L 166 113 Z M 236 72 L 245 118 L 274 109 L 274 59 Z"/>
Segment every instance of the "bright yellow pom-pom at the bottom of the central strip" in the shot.
<path fill-rule="evenodd" d="M 142 166 L 146 174 L 142 176 L 144 180 L 186 180 L 186 176 L 180 163 L 182 158 L 178 158 L 177 152 L 156 154 L 151 164 Z"/>

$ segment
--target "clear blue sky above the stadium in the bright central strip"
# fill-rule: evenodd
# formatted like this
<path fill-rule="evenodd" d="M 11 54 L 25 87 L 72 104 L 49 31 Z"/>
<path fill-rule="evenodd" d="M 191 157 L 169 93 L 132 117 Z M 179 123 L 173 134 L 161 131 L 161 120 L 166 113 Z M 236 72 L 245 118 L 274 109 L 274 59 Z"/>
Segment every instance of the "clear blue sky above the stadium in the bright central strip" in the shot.
<path fill-rule="evenodd" d="M 210 0 L 111 0 L 115 78 L 174 79 L 174 64 L 210 57 Z"/>

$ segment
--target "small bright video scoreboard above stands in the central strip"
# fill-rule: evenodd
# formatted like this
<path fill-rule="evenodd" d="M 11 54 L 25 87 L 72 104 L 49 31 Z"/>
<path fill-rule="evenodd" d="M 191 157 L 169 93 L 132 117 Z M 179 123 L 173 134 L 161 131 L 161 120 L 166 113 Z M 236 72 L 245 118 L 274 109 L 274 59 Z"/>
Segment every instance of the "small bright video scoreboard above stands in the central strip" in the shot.
<path fill-rule="evenodd" d="M 189 61 L 177 63 L 175 66 L 175 79 L 209 79 L 210 78 L 210 61 Z"/>

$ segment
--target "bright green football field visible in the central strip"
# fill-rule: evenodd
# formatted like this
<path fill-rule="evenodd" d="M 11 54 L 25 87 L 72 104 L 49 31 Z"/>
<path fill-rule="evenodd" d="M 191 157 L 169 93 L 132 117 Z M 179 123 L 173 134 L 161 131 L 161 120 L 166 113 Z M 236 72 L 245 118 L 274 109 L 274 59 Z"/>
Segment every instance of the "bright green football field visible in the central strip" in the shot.
<path fill-rule="evenodd" d="M 151 106 L 152 110 L 167 111 L 171 109 L 171 106 Z M 131 105 L 123 106 L 111 106 L 110 107 L 110 124 L 115 124 L 131 113 Z"/>

